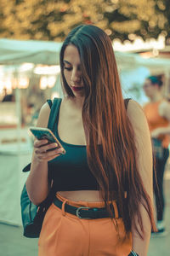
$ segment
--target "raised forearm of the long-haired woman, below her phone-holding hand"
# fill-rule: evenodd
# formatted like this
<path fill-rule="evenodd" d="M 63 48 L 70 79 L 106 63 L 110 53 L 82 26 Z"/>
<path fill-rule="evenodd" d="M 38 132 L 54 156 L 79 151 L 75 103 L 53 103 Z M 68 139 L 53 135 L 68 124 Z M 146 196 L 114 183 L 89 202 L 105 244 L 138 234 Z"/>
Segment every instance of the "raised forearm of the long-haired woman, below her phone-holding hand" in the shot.
<path fill-rule="evenodd" d="M 39 161 L 35 156 L 33 157 L 31 172 L 26 181 L 26 190 L 35 205 L 46 199 L 49 190 L 48 161 Z"/>

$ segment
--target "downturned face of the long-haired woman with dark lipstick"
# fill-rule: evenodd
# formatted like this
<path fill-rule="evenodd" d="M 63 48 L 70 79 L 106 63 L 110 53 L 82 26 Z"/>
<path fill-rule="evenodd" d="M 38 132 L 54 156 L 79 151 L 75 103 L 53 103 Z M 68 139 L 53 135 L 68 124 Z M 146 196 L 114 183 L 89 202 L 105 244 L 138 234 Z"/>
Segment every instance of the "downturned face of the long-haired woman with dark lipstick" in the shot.
<path fill-rule="evenodd" d="M 65 80 L 74 96 L 84 96 L 80 55 L 74 45 L 70 44 L 65 48 L 63 62 Z"/>

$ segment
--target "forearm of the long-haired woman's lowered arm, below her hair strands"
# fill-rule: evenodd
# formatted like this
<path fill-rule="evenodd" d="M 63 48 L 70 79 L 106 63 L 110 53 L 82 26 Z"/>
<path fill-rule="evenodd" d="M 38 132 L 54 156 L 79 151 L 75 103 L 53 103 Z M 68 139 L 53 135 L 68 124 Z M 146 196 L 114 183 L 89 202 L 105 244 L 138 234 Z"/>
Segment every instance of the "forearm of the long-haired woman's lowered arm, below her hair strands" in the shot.
<path fill-rule="evenodd" d="M 133 251 L 138 253 L 139 256 L 147 256 L 148 247 L 150 244 L 150 233 L 151 233 L 151 224 L 150 224 L 150 218 L 148 217 L 147 212 L 145 211 L 144 207 L 140 207 L 140 212 L 142 216 L 142 222 L 144 226 L 144 239 L 142 239 L 137 231 L 134 229 L 132 230 L 133 235 Z M 137 227 L 140 230 L 139 223 L 137 218 L 134 219 L 135 223 L 137 224 Z"/>

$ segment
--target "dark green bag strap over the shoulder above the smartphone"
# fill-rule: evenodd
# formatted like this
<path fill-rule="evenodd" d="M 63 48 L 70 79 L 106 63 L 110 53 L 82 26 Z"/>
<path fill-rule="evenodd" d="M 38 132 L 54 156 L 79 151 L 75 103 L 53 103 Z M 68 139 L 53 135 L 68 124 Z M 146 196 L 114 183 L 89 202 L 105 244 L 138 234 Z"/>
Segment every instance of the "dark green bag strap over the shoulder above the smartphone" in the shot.
<path fill-rule="evenodd" d="M 54 102 L 52 103 L 51 111 L 48 119 L 48 129 L 50 129 L 51 131 L 54 131 L 54 125 L 57 119 L 57 115 L 59 113 L 59 107 L 60 107 L 61 101 L 62 101 L 61 98 L 54 98 Z"/>

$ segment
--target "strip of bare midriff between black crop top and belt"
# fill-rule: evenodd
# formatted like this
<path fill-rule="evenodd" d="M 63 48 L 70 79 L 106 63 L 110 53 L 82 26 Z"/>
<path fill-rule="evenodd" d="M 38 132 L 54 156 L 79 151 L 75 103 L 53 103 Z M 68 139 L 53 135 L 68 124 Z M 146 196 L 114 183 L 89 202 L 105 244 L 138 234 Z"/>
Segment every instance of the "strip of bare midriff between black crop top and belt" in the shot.
<path fill-rule="evenodd" d="M 59 191 L 58 193 L 71 201 L 103 201 L 98 190 Z"/>

